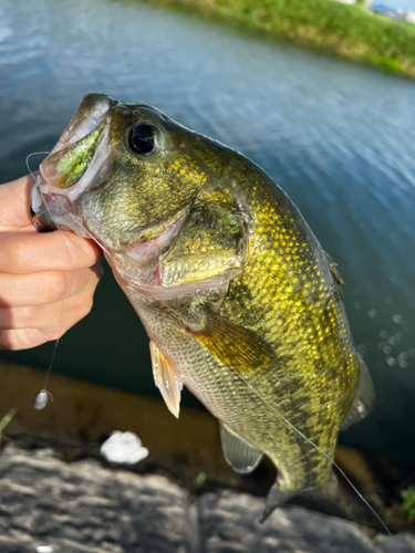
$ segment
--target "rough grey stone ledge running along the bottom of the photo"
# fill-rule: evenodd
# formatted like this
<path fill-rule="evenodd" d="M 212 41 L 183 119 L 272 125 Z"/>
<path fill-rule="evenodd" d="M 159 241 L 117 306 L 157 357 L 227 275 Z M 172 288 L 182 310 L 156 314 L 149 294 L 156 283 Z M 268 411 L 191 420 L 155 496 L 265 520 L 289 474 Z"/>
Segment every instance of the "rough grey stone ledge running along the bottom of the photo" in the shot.
<path fill-rule="evenodd" d="M 68 463 L 51 449 L 0 455 L 0 553 L 415 553 L 414 535 L 376 546 L 357 524 L 300 508 L 261 525 L 261 505 L 228 490 L 189 498 L 164 477 Z"/>

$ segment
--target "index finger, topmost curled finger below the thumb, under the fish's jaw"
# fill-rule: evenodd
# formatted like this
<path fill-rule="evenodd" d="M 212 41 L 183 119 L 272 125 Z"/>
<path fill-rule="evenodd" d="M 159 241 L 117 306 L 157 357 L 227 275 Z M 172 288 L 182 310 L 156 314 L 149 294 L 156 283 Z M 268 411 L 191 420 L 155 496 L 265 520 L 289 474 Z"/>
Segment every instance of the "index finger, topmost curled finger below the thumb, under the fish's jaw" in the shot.
<path fill-rule="evenodd" d="M 71 271 L 92 267 L 101 248 L 73 232 L 0 234 L 0 272 L 24 274 L 40 271 Z"/>

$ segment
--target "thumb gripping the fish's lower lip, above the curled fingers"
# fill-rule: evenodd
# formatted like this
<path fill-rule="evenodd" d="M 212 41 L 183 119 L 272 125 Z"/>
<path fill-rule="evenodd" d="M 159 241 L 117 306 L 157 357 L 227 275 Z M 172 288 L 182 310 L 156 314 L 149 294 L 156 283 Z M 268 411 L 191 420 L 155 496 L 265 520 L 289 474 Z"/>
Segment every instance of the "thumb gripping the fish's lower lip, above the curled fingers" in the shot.
<path fill-rule="evenodd" d="M 29 206 L 34 185 L 31 175 L 0 185 L 0 232 L 34 232 Z"/>

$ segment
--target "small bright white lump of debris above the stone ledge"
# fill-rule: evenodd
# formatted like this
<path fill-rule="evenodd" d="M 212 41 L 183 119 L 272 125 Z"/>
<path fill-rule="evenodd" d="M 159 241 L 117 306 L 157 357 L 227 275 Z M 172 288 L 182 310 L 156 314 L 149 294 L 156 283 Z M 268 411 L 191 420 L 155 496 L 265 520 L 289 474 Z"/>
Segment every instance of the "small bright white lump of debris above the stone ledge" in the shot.
<path fill-rule="evenodd" d="M 135 465 L 148 456 L 148 449 L 134 432 L 114 430 L 101 446 L 101 455 L 110 462 Z"/>

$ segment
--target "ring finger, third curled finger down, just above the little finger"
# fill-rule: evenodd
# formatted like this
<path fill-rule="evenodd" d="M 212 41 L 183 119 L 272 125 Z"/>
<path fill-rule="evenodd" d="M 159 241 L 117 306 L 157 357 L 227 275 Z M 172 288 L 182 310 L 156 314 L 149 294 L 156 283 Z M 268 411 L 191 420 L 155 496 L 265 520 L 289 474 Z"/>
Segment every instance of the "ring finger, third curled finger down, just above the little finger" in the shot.
<path fill-rule="evenodd" d="M 39 328 L 58 332 L 71 327 L 91 311 L 94 290 L 55 303 L 0 309 L 0 330 Z"/>

